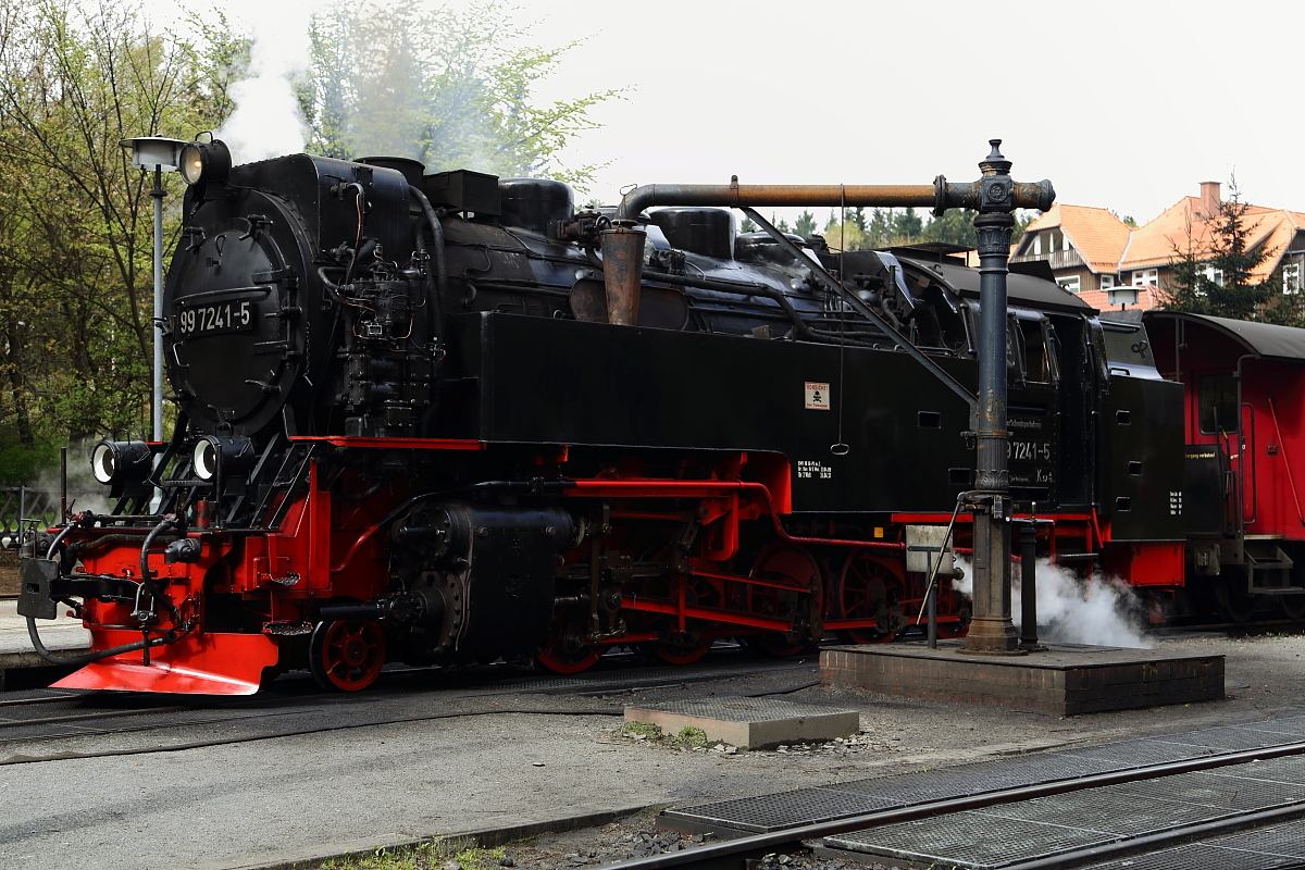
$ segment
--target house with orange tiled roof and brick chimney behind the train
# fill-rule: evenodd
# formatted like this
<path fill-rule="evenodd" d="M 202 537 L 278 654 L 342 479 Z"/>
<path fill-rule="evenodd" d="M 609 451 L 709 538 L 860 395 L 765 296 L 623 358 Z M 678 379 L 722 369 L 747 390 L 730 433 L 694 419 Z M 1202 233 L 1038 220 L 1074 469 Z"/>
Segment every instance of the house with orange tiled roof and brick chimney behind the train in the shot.
<path fill-rule="evenodd" d="M 1171 262 L 1190 250 L 1211 256 L 1211 230 L 1219 217 L 1220 184 L 1202 181 L 1201 194 L 1184 197 L 1142 227 L 1130 227 L 1105 209 L 1054 205 L 1034 220 L 1011 247 L 1011 263 L 1047 261 L 1056 279 L 1094 308 L 1113 307 L 1111 291 L 1137 288 L 1126 308 L 1156 308 L 1168 299 Z M 1249 249 L 1268 252 L 1253 273 L 1262 280 L 1283 277 L 1283 292 L 1301 292 L 1305 266 L 1305 214 L 1248 205 L 1244 224 Z M 1214 267 L 1207 277 L 1220 280 Z M 1131 293 L 1130 293 L 1131 296 Z"/>

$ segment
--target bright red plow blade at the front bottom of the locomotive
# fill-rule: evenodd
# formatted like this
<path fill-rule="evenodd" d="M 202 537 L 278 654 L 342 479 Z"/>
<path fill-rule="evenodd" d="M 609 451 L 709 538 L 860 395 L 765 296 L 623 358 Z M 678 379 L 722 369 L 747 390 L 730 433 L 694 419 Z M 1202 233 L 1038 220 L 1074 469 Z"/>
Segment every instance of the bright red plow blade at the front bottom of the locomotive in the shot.
<path fill-rule="evenodd" d="M 130 643 L 133 631 L 95 631 L 95 647 Z M 252 695 L 264 668 L 277 664 L 277 642 L 261 634 L 204 634 L 153 647 L 146 665 L 140 652 L 94 661 L 52 687 L 157 691 L 189 695 Z M 181 664 L 184 663 L 184 664 Z"/>

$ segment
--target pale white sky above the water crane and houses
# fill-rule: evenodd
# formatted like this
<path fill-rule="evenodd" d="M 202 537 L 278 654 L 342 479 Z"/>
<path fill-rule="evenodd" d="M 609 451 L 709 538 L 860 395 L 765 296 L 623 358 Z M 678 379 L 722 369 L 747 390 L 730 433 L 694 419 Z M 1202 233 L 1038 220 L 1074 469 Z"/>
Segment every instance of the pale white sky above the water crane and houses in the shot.
<path fill-rule="evenodd" d="M 227 0 L 238 14 L 251 1 Z M 1305 211 L 1292 99 L 1302 5 L 515 5 L 518 23 L 534 22 L 534 44 L 583 40 L 539 98 L 628 89 L 592 110 L 602 128 L 564 155 L 608 163 L 590 192 L 604 202 L 636 184 L 731 175 L 753 184 L 971 181 L 988 140 L 1001 138 L 1017 180 L 1051 179 L 1060 202 L 1139 222 L 1195 196 L 1201 181 L 1227 190 L 1232 176 L 1245 201 Z"/>

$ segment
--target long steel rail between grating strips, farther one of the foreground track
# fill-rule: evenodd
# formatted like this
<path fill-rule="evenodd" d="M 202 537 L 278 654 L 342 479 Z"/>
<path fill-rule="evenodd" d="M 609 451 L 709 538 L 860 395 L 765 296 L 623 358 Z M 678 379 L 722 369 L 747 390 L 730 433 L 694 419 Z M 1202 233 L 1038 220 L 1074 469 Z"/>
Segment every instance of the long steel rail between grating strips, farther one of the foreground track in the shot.
<path fill-rule="evenodd" d="M 1207 755 L 1205 758 L 1191 758 L 1181 762 L 1167 762 L 1164 764 L 1152 764 L 1150 767 L 1138 767 L 1126 771 L 1094 773 L 1091 776 L 1071 780 L 1039 783 L 1036 785 L 1021 785 L 1018 788 L 1000 789 L 987 792 L 984 794 L 971 794 L 945 801 L 933 801 L 930 803 L 917 803 L 915 806 L 904 806 L 895 810 L 880 810 L 833 822 L 816 822 L 812 824 L 803 824 L 796 828 L 788 828 L 786 831 L 756 833 L 733 840 L 726 840 L 723 843 L 714 843 L 711 845 L 702 845 L 684 852 L 673 852 L 649 858 L 637 858 L 634 861 L 611 863 L 607 865 L 604 870 L 663 870 L 668 867 L 699 866 L 711 867 L 711 870 L 724 870 L 726 867 L 741 869 L 744 866 L 743 861 L 749 857 L 754 857 L 758 853 L 775 852 L 780 847 L 801 844 L 804 840 L 821 840 L 839 833 L 851 833 L 852 831 L 863 831 L 865 828 L 885 824 L 915 822 L 917 819 L 927 819 L 934 815 L 979 810 L 987 806 L 1014 803 L 1017 801 L 1027 801 L 1039 797 L 1051 797 L 1052 794 L 1064 794 L 1066 792 L 1082 792 L 1090 788 L 1100 788 L 1103 785 L 1120 785 L 1122 783 L 1163 779 L 1165 776 L 1176 776 L 1178 773 L 1193 773 L 1216 767 L 1231 767 L 1235 764 L 1246 764 L 1249 762 L 1258 762 L 1270 758 L 1302 754 L 1305 754 L 1305 741 L 1282 743 L 1279 746 L 1266 746 L 1263 749 L 1242 750 L 1237 753 Z M 1305 803 L 1297 805 L 1295 809 L 1305 814 Z M 1134 841 L 1141 839 L 1142 837 L 1134 837 Z M 1015 866 L 1023 870 L 1026 865 Z"/>

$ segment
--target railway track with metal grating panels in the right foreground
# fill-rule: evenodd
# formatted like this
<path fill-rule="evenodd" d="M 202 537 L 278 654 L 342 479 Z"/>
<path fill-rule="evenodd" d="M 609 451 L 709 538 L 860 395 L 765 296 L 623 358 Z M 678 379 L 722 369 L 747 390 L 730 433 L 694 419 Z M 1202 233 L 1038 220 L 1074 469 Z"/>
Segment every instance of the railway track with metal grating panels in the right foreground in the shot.
<path fill-rule="evenodd" d="M 732 833 L 733 839 L 608 865 L 607 870 L 754 870 L 774 865 L 773 861 L 758 862 L 767 854 L 805 850 L 813 850 L 817 857 L 894 867 L 1305 867 L 1305 787 L 1300 784 L 1305 779 L 1305 738 L 1301 737 L 1305 717 L 1285 721 L 1297 732 L 1292 737 L 1279 736 L 1289 742 L 1061 779 L 1048 776 L 1047 781 L 1019 785 L 1009 785 L 1013 777 L 1007 772 L 1006 788 L 1000 788 L 1001 762 L 963 766 L 988 766 L 989 787 L 962 784 L 955 787 L 962 793 L 933 800 L 911 798 L 912 787 L 920 785 L 911 781 L 912 775 L 829 787 L 823 789 L 829 792 L 825 796 L 827 806 L 837 802 L 830 798 L 837 798 L 834 792 L 839 789 L 846 792 L 844 803 L 848 796 L 859 793 L 863 806 L 880 806 L 816 822 L 786 824 L 776 820 L 774 811 L 787 806 L 791 818 L 800 819 L 801 807 L 809 814 L 813 802 L 820 802 L 813 793 L 822 789 L 752 798 L 762 806 L 753 806 L 750 815 L 744 800 L 669 810 L 662 814 L 660 827 L 683 833 L 710 830 L 718 837 Z M 1276 727 L 1274 723 L 1255 725 L 1267 732 L 1268 741 L 1275 740 L 1267 730 Z M 1207 733 L 1210 740 L 1228 740 L 1227 734 L 1218 733 L 1236 730 L 1255 729 L 1212 728 L 1174 738 L 1195 741 Z M 1047 754 L 1044 760 L 1047 768 L 1054 771 L 1075 757 L 1082 760 L 1095 753 L 1099 760 L 1108 759 L 1116 746 L 1121 745 L 1066 750 Z M 1120 753 L 1118 758 L 1126 755 Z M 936 776 L 929 788 L 946 793 L 944 783 L 954 772 L 963 771 L 932 772 Z M 1014 779 L 1018 781 L 1018 772 Z M 894 787 L 898 788 L 895 793 Z M 972 792 L 963 793 L 966 788 Z M 925 790 L 917 788 L 914 794 L 917 798 Z M 773 815 L 766 817 L 767 811 Z M 769 820 L 758 822 L 763 817 Z M 731 831 L 731 818 L 750 818 L 756 826 L 779 830 Z"/>

